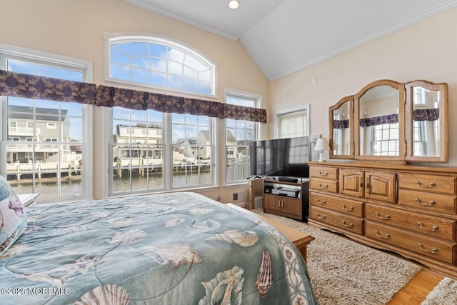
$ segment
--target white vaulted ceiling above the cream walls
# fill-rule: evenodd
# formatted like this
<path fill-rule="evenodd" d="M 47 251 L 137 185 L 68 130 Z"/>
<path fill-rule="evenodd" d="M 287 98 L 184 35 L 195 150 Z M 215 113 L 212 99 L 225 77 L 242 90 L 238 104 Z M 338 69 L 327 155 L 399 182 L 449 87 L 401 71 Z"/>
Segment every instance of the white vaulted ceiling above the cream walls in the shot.
<path fill-rule="evenodd" d="M 241 41 L 269 81 L 457 7 L 457 0 L 123 0 Z"/>

